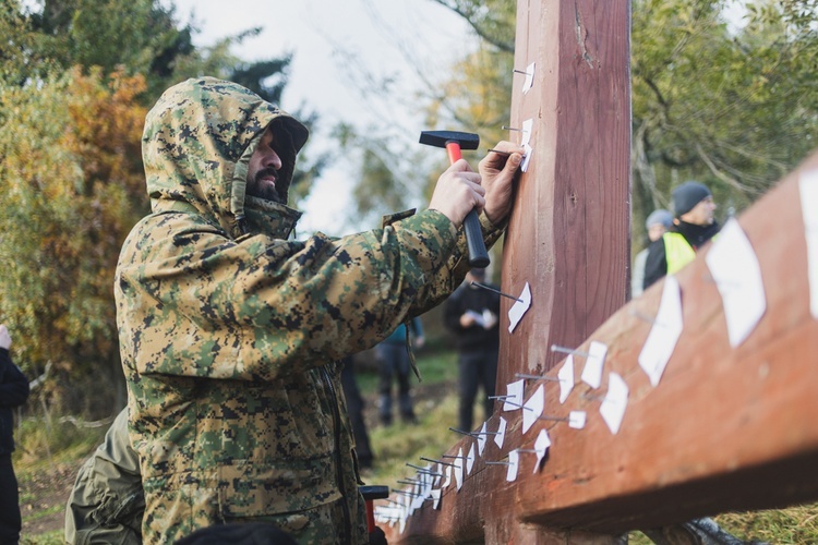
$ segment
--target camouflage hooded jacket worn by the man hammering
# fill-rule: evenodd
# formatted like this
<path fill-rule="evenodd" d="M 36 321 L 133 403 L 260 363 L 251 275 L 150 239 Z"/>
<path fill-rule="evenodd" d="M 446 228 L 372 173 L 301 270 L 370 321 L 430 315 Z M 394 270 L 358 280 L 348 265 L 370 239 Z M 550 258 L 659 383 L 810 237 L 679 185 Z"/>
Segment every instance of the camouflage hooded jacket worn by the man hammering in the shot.
<path fill-rule="evenodd" d="M 270 123 L 290 138 L 291 169 L 306 130 L 236 84 L 189 80 L 146 118 L 152 214 L 123 244 L 115 293 L 148 543 L 250 519 L 300 542 L 365 542 L 334 362 L 440 303 L 468 270 L 464 237 L 434 210 L 287 240 L 299 214 L 244 195 Z M 491 244 L 500 230 L 481 221 Z"/>

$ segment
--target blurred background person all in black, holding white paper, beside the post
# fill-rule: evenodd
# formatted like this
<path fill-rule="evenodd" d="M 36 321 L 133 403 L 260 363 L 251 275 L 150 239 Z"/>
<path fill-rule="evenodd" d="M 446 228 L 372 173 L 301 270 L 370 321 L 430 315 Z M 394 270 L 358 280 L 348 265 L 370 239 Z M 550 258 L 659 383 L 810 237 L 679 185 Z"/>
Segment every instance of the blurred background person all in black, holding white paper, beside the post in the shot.
<path fill-rule="evenodd" d="M 497 351 L 500 349 L 500 295 L 493 291 L 472 286 L 485 283 L 485 269 L 473 268 L 466 281 L 452 294 L 444 307 L 443 320 L 457 338 L 458 393 L 460 396 L 458 426 L 471 431 L 474 400 L 478 389 L 483 388 L 483 413 L 488 419 L 494 409 L 497 380 Z"/>

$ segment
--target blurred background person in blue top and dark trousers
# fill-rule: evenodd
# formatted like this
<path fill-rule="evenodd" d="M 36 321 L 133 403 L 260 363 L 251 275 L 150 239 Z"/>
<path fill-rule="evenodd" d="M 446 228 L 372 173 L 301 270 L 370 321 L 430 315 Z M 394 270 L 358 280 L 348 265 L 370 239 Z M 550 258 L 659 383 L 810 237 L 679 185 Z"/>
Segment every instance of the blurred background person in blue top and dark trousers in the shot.
<path fill-rule="evenodd" d="M 409 322 L 409 340 L 416 349 L 423 348 L 425 339 L 423 337 L 423 325 L 420 318 L 414 317 Z M 407 326 L 401 324 L 392 335 L 381 341 L 375 347 L 375 355 L 381 375 L 378 392 L 381 395 L 380 416 L 381 423 L 385 426 L 392 425 L 392 383 L 393 376 L 398 382 L 398 408 L 400 417 L 404 422 L 414 423 L 414 408 L 410 396 L 411 386 L 409 384 L 409 374 L 411 365 L 409 363 L 410 347 L 407 343 Z"/>

